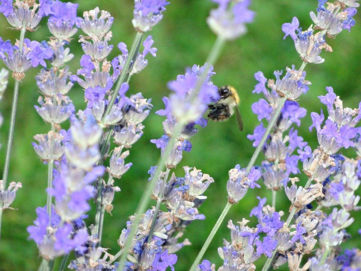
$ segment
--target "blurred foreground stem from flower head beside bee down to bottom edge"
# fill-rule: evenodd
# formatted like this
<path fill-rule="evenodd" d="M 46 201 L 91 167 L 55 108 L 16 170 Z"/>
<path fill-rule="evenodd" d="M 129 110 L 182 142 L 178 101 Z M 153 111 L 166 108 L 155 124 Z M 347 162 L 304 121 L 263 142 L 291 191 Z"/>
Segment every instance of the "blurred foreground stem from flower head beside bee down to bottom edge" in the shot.
<path fill-rule="evenodd" d="M 148 202 L 149 202 L 150 196 L 152 194 L 153 188 L 154 188 L 154 186 L 155 186 L 155 184 L 156 184 L 156 182 L 157 182 L 157 180 L 158 180 L 158 178 L 160 176 L 161 171 L 164 168 L 164 163 L 168 159 L 169 154 L 170 154 L 171 150 L 173 149 L 173 146 L 174 146 L 175 142 L 178 139 L 178 136 L 181 134 L 183 126 L 184 126 L 184 124 L 181 123 L 181 122 L 177 123 L 174 126 L 173 136 L 169 139 L 169 142 L 168 142 L 168 144 L 167 144 L 167 146 L 165 148 L 165 151 L 163 152 L 163 155 L 161 156 L 161 158 L 159 159 L 159 161 L 157 163 L 157 169 L 154 172 L 153 177 L 151 178 L 151 180 L 148 182 L 147 189 L 145 190 L 145 192 L 142 195 L 142 198 L 140 199 L 139 205 L 138 205 L 138 207 L 137 207 L 137 209 L 135 211 L 135 214 L 136 214 L 135 219 L 132 222 L 132 227 L 130 229 L 128 237 L 126 238 L 125 245 L 124 245 L 124 248 L 123 248 L 123 250 L 126 251 L 126 253 L 122 254 L 122 256 L 120 258 L 120 261 L 119 261 L 119 267 L 118 267 L 119 271 L 123 270 L 123 267 L 124 267 L 124 264 L 125 264 L 125 261 L 126 261 L 126 258 L 127 258 L 128 251 L 129 251 L 130 246 L 132 244 L 132 238 L 133 238 L 133 236 L 134 236 L 134 234 L 135 234 L 135 232 L 136 232 L 136 230 L 138 229 L 138 226 L 139 226 L 140 218 L 141 218 L 142 214 L 145 212 L 145 209 L 146 209 L 146 207 L 148 205 Z"/>

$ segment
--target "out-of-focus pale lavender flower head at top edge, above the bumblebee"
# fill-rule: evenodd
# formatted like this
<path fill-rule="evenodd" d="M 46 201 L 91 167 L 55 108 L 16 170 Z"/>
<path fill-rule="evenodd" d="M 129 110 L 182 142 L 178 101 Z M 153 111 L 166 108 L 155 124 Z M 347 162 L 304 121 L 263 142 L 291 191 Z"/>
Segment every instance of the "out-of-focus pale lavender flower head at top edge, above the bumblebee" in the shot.
<path fill-rule="evenodd" d="M 222 39 L 232 40 L 246 33 L 245 23 L 253 21 L 254 12 L 248 9 L 251 0 L 211 0 L 218 8 L 210 12 L 207 23 Z"/>

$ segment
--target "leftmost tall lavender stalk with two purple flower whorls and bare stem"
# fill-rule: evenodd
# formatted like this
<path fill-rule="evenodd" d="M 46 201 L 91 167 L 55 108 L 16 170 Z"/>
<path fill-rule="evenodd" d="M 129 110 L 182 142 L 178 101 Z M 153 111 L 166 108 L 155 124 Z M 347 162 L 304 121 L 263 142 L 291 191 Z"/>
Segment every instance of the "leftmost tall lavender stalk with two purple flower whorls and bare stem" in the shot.
<path fill-rule="evenodd" d="M 12 109 L 10 114 L 10 126 L 8 141 L 6 145 L 5 164 L 3 171 L 3 186 L 6 187 L 8 180 L 10 155 L 14 136 L 16 107 L 19 92 L 19 83 L 25 77 L 25 72 L 31 67 L 39 64 L 46 66 L 44 59 L 52 56 L 52 50 L 37 41 L 25 39 L 26 31 L 35 31 L 41 18 L 49 14 L 48 1 L 1 1 L 0 12 L 4 14 L 14 30 L 20 30 L 20 38 L 12 45 L 10 40 L 3 41 L 0 37 L 0 58 L 9 70 L 12 70 L 12 77 L 15 79 Z M 1 215 L 0 215 L 1 228 Z"/>

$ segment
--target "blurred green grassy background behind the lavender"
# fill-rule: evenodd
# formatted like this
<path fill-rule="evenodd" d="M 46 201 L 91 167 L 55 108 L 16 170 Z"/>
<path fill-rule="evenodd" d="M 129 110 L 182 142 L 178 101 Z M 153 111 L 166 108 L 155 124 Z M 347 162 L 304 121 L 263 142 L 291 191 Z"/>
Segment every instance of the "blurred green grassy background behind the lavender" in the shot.
<path fill-rule="evenodd" d="M 109 59 L 119 53 L 116 48 L 119 42 L 125 42 L 130 47 L 135 36 L 131 24 L 133 1 L 73 2 L 79 3 L 78 16 L 81 16 L 84 10 L 90 10 L 99 5 L 100 9 L 108 10 L 114 17 L 111 29 L 113 32 L 111 42 L 114 44 L 114 50 Z M 182 177 L 184 176 L 183 166 L 196 167 L 202 169 L 204 173 L 208 173 L 215 180 L 206 191 L 208 199 L 199 208 L 200 212 L 205 214 L 206 219 L 195 221 L 187 227 L 184 237 L 190 239 L 192 246 L 178 251 L 178 262 L 174 266 L 176 270 L 189 269 L 222 212 L 227 201 L 226 182 L 229 169 L 235 164 L 246 167 L 253 154 L 254 148 L 252 142 L 247 139 L 247 134 L 253 132 L 258 121 L 251 111 L 251 104 L 263 98 L 261 95 L 252 94 L 253 87 L 257 83 L 254 73 L 261 70 L 267 78 L 273 78 L 274 70 L 284 70 L 286 66 L 292 64 L 295 64 L 296 68 L 301 65 L 291 38 L 283 40 L 284 34 L 281 26 L 284 22 L 291 22 L 293 16 L 297 16 L 300 26 L 303 29 L 308 28 L 312 23 L 309 12 L 315 10 L 317 4 L 316 0 L 253 1 L 251 8 L 255 10 L 256 17 L 254 22 L 247 26 L 248 33 L 227 43 L 214 65 L 214 71 L 217 73 L 213 76 L 214 84 L 229 84 L 239 92 L 242 100 L 240 111 L 243 116 L 244 131 L 241 133 L 238 130 L 234 117 L 226 123 L 209 122 L 205 129 L 200 129 L 199 133 L 192 138 L 192 151 L 184 154 L 182 162 L 175 169 L 177 176 Z M 178 74 L 183 74 L 187 66 L 204 64 L 216 39 L 205 22 L 209 10 L 214 7 L 215 4 L 208 0 L 171 1 L 171 4 L 166 7 L 163 20 L 149 33 L 155 40 L 154 46 L 158 48 L 157 56 L 156 58 L 148 56 L 148 66 L 140 74 L 131 78 L 128 94 L 142 92 L 145 97 L 152 98 L 154 109 L 143 123 L 145 125 L 143 137 L 130 149 L 130 156 L 126 159 L 126 162 L 132 162 L 133 166 L 121 180 L 116 182 L 122 191 L 117 193 L 114 199 L 113 216 L 105 215 L 102 246 L 110 248 L 112 254 L 118 252 L 117 238 L 125 227 L 128 217 L 134 214 L 138 205 L 149 177 L 147 171 L 157 163 L 160 156 L 160 151 L 154 144 L 149 143 L 149 140 L 162 135 L 161 123 L 164 117 L 158 116 L 154 112 L 164 108 L 162 97 L 169 95 L 167 82 L 174 80 Z M 309 113 L 319 112 L 320 108 L 326 111 L 325 106 L 317 98 L 318 95 L 325 94 L 326 86 L 334 87 L 335 93 L 340 95 L 344 101 L 344 106 L 357 107 L 361 100 L 360 14 L 356 14 L 355 19 L 356 26 L 352 27 L 351 33 L 344 30 L 336 39 L 328 39 L 334 52 L 322 53 L 321 56 L 325 58 L 325 63 L 306 66 L 306 79 L 311 81 L 312 85 L 309 92 L 302 95 L 299 100 L 300 105 L 308 111 L 308 115 L 303 119 L 299 128 L 299 135 L 303 136 L 312 148 L 317 147 L 318 143 L 315 132 L 310 133 L 308 130 L 311 124 Z M 14 42 L 19 37 L 19 31 L 5 29 L 8 22 L 3 16 L 0 17 L 0 25 L 2 26 L 1 37 L 3 40 L 10 39 Z M 79 34 L 83 34 L 81 30 L 78 31 L 77 35 Z M 70 44 L 70 51 L 74 53 L 74 59 L 69 63 L 72 73 L 76 73 L 79 68 L 79 60 L 83 53 L 77 42 L 77 35 Z M 47 39 L 49 36 L 45 21 L 34 33 L 26 33 L 26 38 L 38 41 Z M 18 208 L 18 210 L 6 210 L 3 214 L 0 270 L 36 270 L 41 261 L 35 242 L 27 240 L 28 233 L 26 232 L 26 227 L 31 225 L 36 218 L 35 208 L 44 206 L 46 202 L 47 166 L 40 162 L 31 146 L 32 137 L 35 134 L 47 133 L 49 130 L 49 125 L 42 121 L 34 109 L 39 96 L 34 77 L 39 69 L 39 67 L 30 69 L 20 85 L 8 180 L 22 182 L 23 188 L 18 190 L 16 200 L 12 204 L 12 207 Z M 4 117 L 0 138 L 2 145 L 0 150 L 1 169 L 4 164 L 13 84 L 14 80 L 9 78 L 8 89 L 0 102 L 0 111 Z M 79 85 L 74 85 L 69 96 L 77 110 L 85 108 L 83 90 Z M 63 127 L 67 128 L 68 125 L 66 123 Z M 349 157 L 356 156 L 351 149 L 343 151 Z M 264 156 L 261 155 L 256 164 L 260 164 L 263 158 Z M 300 175 L 300 178 L 304 181 L 305 175 Z M 267 197 L 268 203 L 270 203 L 271 192 L 264 186 L 261 189 L 250 189 L 246 197 L 231 208 L 214 237 L 205 258 L 216 263 L 217 267 L 222 264 L 217 248 L 222 246 L 223 238 L 230 240 L 230 231 L 226 227 L 227 220 L 232 219 L 236 223 L 242 218 L 249 218 L 251 208 L 258 203 L 257 195 Z M 151 204 L 155 205 L 154 202 Z M 286 212 L 283 219 L 287 217 L 289 205 L 283 192 L 279 192 L 276 208 Z M 89 212 L 90 216 L 87 220 L 88 225 L 94 221 L 94 207 L 92 203 L 92 211 Z M 358 216 L 356 213 L 352 213 L 352 215 Z M 251 223 L 250 225 L 255 226 L 254 217 L 251 219 Z M 358 237 L 359 225 L 360 218 L 356 217 L 355 223 L 349 228 L 353 237 Z M 352 238 L 343 247 L 351 248 L 357 246 L 359 242 L 358 238 Z M 265 257 L 261 257 L 256 262 L 257 270 L 263 265 L 264 259 Z M 58 261 L 55 268 L 57 265 Z M 287 270 L 285 266 L 284 270 Z"/>

